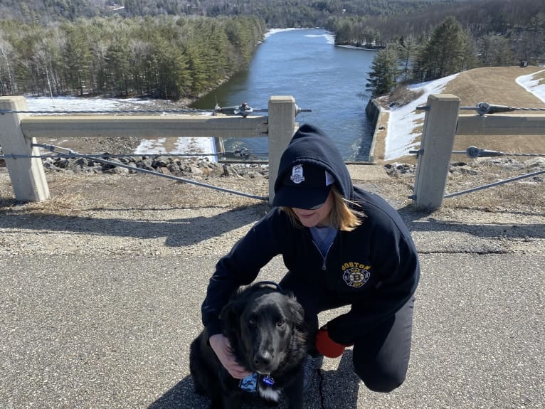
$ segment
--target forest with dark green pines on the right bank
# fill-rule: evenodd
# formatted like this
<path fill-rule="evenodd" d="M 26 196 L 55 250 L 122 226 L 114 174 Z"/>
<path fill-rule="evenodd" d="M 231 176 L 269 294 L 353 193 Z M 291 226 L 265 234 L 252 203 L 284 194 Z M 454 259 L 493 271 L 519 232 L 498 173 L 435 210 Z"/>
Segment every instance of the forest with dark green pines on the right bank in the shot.
<path fill-rule="evenodd" d="M 398 83 L 435 80 L 471 68 L 544 62 L 545 4 L 542 0 L 485 0 L 479 4 L 480 8 L 476 9 L 470 8 L 469 2 L 463 3 L 456 11 L 447 9 L 443 14 L 431 8 L 433 18 L 428 21 L 443 20 L 429 27 L 411 26 L 410 16 L 403 26 L 401 18 L 393 17 L 389 20 L 388 26 L 392 29 L 387 38 L 377 34 L 381 33 L 379 28 L 366 26 L 366 32 L 370 33 L 367 38 L 381 38 L 383 45 L 371 66 L 367 89 L 376 96 L 390 92 Z M 453 11 L 453 15 L 445 18 L 445 11 Z M 339 31 L 343 29 L 340 27 Z M 358 41 L 365 46 L 364 41 L 368 40 Z"/>

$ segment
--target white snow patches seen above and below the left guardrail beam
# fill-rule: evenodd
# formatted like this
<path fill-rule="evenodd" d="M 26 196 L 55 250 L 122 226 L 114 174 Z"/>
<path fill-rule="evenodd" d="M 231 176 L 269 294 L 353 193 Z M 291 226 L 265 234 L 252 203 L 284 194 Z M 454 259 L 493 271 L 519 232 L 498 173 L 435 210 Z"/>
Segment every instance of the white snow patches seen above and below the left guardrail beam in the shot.
<path fill-rule="evenodd" d="M 78 97 L 26 97 L 28 110 L 46 112 L 98 112 L 112 111 L 120 113 L 123 110 L 155 110 L 150 100 L 137 98 L 78 98 Z M 173 107 L 173 110 L 175 108 Z M 165 112 L 163 115 L 169 115 Z M 135 154 L 188 154 L 188 153 L 216 153 L 216 144 L 213 138 L 178 138 L 173 145 L 174 149 L 167 152 L 165 138 L 142 139 Z M 62 141 L 59 142 L 62 146 Z M 208 160 L 216 161 L 216 156 L 207 156 Z"/>

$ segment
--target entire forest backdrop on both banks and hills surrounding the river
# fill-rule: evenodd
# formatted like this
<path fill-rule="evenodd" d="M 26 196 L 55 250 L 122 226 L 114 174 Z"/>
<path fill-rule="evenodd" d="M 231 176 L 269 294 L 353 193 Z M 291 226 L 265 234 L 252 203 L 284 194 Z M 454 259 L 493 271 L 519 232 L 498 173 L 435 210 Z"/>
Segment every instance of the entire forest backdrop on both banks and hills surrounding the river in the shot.
<path fill-rule="evenodd" d="M 0 16 L 0 94 L 200 95 L 248 65 L 266 28 L 297 26 L 381 49 L 374 95 L 545 59 L 544 0 L 3 0 Z"/>

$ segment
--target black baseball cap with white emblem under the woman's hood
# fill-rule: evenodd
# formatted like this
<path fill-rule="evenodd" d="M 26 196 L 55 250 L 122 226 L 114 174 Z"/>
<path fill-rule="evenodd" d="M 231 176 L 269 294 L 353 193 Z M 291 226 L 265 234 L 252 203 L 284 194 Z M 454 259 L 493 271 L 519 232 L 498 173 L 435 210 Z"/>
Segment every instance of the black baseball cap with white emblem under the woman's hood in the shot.
<path fill-rule="evenodd" d="M 333 176 L 312 164 L 295 164 L 280 176 L 272 206 L 315 209 L 327 200 Z"/>

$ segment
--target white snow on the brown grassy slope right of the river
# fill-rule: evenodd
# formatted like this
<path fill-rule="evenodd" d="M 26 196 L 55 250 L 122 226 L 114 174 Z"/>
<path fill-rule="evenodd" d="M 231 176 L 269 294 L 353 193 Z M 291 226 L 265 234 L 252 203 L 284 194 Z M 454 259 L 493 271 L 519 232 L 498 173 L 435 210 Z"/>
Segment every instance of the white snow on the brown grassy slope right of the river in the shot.
<path fill-rule="evenodd" d="M 543 71 L 545 70 L 538 73 Z M 536 74 L 532 73 L 517 78 L 517 84 L 545 102 L 545 84 L 539 85 L 539 80 L 534 80 Z M 445 86 L 456 76 L 457 74 L 450 75 L 450 77 L 440 78 L 429 83 L 414 84 L 409 87 L 411 90 L 422 90 L 423 94 L 417 100 L 403 105 L 403 107 L 394 107 L 390 110 L 384 159 L 397 159 L 408 154 L 411 149 L 418 149 L 419 142 L 415 142 L 415 139 L 420 136 L 420 133 L 415 132 L 415 129 L 424 119 L 425 112 L 415 111 L 416 107 L 425 105 L 430 94 L 443 92 Z"/>

